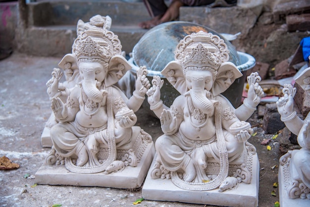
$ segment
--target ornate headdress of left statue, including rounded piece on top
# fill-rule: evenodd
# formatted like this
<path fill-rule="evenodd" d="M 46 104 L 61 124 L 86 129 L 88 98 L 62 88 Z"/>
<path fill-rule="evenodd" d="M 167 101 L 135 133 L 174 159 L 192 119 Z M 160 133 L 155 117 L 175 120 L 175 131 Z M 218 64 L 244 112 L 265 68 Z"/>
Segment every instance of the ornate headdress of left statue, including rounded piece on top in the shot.
<path fill-rule="evenodd" d="M 95 17 L 89 23 L 82 20 L 78 22 L 79 35 L 72 45 L 72 54 L 78 62 L 80 59 L 101 59 L 108 62 L 113 55 L 122 52 L 117 35 L 108 30 L 110 22 L 106 21 L 110 21 L 110 18 L 100 18 L 100 15 Z"/>

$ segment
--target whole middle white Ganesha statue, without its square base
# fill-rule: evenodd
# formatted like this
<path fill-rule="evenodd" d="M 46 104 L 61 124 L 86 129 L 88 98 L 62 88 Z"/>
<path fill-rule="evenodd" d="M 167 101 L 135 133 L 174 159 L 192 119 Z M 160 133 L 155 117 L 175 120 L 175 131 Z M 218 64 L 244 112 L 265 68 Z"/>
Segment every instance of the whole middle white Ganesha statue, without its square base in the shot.
<path fill-rule="evenodd" d="M 155 142 L 154 179 L 171 178 L 185 190 L 219 192 L 251 183 L 257 154 L 248 142 L 253 129 L 246 120 L 263 95 L 261 79 L 258 73 L 248 77 L 248 98 L 235 109 L 221 93 L 242 73 L 228 60 L 224 40 L 200 31 L 179 42 L 175 60 L 161 72 L 181 94 L 170 108 L 160 100 L 163 81 L 154 77 L 148 102 L 164 133 Z"/>

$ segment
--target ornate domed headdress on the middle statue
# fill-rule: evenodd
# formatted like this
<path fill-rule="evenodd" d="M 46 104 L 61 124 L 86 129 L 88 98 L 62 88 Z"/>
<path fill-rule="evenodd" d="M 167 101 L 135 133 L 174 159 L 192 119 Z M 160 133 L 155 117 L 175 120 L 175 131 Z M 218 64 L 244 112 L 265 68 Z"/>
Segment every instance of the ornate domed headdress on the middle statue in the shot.
<path fill-rule="evenodd" d="M 229 50 L 224 40 L 203 31 L 186 36 L 174 53 L 184 69 L 212 68 L 217 71 L 222 62 L 229 60 Z"/>

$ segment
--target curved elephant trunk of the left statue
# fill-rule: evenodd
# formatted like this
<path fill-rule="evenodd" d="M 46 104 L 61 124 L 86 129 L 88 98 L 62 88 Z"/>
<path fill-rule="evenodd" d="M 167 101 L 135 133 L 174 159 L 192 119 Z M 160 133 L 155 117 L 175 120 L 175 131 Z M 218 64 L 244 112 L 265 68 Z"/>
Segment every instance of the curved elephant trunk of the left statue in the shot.
<path fill-rule="evenodd" d="M 85 71 L 84 80 L 82 80 L 82 87 L 86 96 L 92 101 L 99 103 L 103 100 L 103 94 L 97 88 L 97 80 L 95 79 L 95 73 L 88 69 Z"/>

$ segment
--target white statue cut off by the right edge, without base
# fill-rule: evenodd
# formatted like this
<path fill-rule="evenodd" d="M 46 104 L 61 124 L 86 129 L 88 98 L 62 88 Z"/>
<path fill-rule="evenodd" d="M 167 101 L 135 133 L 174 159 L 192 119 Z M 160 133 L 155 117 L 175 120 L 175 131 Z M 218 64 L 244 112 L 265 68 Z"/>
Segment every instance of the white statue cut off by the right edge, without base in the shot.
<path fill-rule="evenodd" d="M 310 67 L 296 79 L 296 83 L 309 93 Z M 281 156 L 280 164 L 283 169 L 282 182 L 284 183 L 281 187 L 285 189 L 290 199 L 310 200 L 310 113 L 302 120 L 294 111 L 296 88 L 286 84 L 282 92 L 284 96 L 277 102 L 281 120 L 292 133 L 298 135 L 298 144 L 302 149 L 288 151 L 287 154 Z"/>

